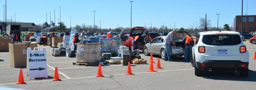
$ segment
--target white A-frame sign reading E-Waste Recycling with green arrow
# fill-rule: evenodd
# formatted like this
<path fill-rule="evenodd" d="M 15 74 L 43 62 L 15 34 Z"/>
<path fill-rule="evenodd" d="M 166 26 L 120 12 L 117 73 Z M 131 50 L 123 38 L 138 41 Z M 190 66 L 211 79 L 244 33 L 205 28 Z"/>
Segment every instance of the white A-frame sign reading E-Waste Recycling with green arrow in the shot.
<path fill-rule="evenodd" d="M 47 61 L 46 61 L 46 48 L 35 47 L 34 50 L 28 48 L 27 52 L 27 76 L 31 78 L 48 78 L 47 75 Z"/>

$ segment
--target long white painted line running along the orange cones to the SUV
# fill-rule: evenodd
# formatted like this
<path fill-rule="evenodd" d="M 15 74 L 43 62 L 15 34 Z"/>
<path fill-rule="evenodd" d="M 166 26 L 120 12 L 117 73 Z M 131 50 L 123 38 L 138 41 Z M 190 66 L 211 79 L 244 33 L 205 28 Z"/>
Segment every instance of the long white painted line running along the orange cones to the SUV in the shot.
<path fill-rule="evenodd" d="M 47 64 L 47 66 L 49 66 Z M 52 66 L 49 66 L 51 68 L 53 68 Z M 166 70 L 166 71 L 157 71 L 157 72 L 168 72 L 168 71 L 181 71 L 181 70 L 192 70 L 192 69 L 179 69 L 179 70 Z M 60 72 L 59 72 L 60 73 Z M 154 73 L 154 72 L 142 72 L 142 73 Z M 133 74 L 138 74 L 138 73 L 133 73 Z M 113 74 L 113 76 L 115 75 L 125 75 L 125 74 Z M 112 76 L 112 75 L 104 75 L 104 76 Z M 81 77 L 81 78 L 67 78 L 67 79 L 62 79 L 62 80 L 71 80 L 71 79 L 83 79 L 83 78 L 94 78 L 96 76 L 91 76 L 91 77 Z M 42 80 L 42 81 L 30 81 L 30 82 L 26 82 L 26 83 L 31 83 L 31 82 L 43 82 L 43 81 L 52 81 L 52 80 Z M 5 84 L 0 84 L 0 85 L 8 85 L 8 84 L 16 84 L 16 83 L 5 83 Z"/>

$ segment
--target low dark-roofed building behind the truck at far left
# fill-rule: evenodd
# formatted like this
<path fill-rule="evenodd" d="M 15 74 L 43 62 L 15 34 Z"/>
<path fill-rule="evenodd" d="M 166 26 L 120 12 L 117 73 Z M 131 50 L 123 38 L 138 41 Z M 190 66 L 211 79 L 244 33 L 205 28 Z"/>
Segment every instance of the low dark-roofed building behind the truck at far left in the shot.
<path fill-rule="evenodd" d="M 8 26 L 8 25 L 20 25 L 20 27 L 21 27 L 21 29 L 20 29 L 20 31 L 35 31 L 34 30 L 34 26 L 36 25 L 36 24 L 34 24 L 34 23 L 18 23 L 18 22 L 16 22 L 16 23 L 14 23 L 14 22 L 7 22 L 7 24 L 5 24 L 5 22 L 0 22 L 0 26 L 3 26 L 3 27 L 0 27 L 1 29 L 3 28 L 4 29 L 4 31 L 6 31 L 6 29 L 5 29 L 5 25 L 6 26 Z M 3 30 L 2 29 L 2 30 Z"/>

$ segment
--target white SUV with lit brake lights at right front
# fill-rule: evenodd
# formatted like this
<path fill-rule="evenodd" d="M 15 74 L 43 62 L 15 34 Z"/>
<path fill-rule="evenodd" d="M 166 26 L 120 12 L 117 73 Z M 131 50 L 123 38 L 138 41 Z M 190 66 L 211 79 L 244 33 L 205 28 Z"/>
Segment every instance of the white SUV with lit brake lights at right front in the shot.
<path fill-rule="evenodd" d="M 195 75 L 204 70 L 233 70 L 237 75 L 248 75 L 249 52 L 240 36 L 235 31 L 200 32 L 192 48 L 192 66 Z"/>

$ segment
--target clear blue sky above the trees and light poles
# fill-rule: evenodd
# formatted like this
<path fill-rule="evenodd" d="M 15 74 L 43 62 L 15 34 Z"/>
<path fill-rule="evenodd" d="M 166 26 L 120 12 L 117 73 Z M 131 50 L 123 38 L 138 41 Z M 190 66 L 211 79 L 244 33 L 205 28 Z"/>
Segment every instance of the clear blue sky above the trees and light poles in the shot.
<path fill-rule="evenodd" d="M 93 25 L 93 10 L 95 10 L 95 25 L 102 28 L 130 27 L 131 3 L 129 0 L 7 0 L 7 19 L 14 21 L 34 22 L 43 24 L 46 21 L 55 21 L 60 18 L 67 27 L 76 24 Z M 217 13 L 219 15 L 219 27 L 224 24 L 232 25 L 234 17 L 241 15 L 242 0 L 133 0 L 132 3 L 132 27 L 144 26 L 160 27 L 162 24 L 168 28 L 185 27 L 198 23 L 205 17 L 211 20 L 211 26 L 217 27 Z M 244 0 L 244 12 L 246 14 L 246 1 Z M 3 20 L 3 6 L 5 0 L 0 0 L 0 20 Z M 256 15 L 256 0 L 248 0 L 248 15 Z"/>

